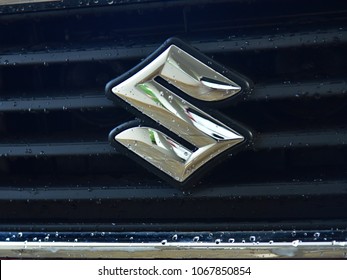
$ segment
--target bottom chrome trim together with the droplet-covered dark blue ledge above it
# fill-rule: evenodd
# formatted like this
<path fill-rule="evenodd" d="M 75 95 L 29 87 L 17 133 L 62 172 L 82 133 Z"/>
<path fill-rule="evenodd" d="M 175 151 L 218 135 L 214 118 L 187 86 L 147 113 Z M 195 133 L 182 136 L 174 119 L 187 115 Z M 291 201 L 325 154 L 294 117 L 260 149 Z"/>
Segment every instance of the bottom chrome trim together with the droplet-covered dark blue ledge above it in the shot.
<path fill-rule="evenodd" d="M 12 231 L 0 258 L 347 258 L 347 231 Z"/>

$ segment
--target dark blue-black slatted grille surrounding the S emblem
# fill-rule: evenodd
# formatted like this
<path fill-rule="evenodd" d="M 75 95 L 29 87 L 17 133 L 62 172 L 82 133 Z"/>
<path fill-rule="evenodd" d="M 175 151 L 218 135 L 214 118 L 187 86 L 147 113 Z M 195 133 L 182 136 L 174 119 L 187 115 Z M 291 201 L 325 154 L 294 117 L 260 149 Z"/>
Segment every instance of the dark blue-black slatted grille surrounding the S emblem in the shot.
<path fill-rule="evenodd" d="M 347 5 L 304 2 L 100 1 L 78 9 L 3 9 L 2 227 L 344 225 Z M 184 192 L 107 142 L 111 129 L 133 117 L 105 98 L 105 84 L 172 36 L 255 84 L 247 100 L 223 109 L 253 129 L 254 148 Z"/>

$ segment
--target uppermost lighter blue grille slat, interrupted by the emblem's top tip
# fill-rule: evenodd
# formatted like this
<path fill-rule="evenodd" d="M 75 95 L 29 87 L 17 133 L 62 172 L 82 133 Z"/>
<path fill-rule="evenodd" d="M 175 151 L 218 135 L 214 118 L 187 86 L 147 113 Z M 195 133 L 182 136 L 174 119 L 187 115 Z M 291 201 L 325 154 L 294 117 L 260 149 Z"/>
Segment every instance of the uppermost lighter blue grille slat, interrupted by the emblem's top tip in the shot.
<path fill-rule="evenodd" d="M 276 32 L 265 35 L 231 35 L 230 38 L 213 38 L 210 41 L 201 38 L 192 40 L 192 46 L 206 54 L 240 52 L 240 51 L 262 51 L 278 50 L 285 48 L 300 47 L 327 47 L 329 45 L 341 45 L 347 43 L 347 26 L 342 26 L 333 30 L 323 30 L 301 33 Z M 278 33 L 278 32 L 277 32 Z M 107 44 L 107 43 L 106 43 Z M 31 52 L 22 50 L 19 53 L 11 52 L 3 54 L 0 58 L 0 65 L 32 65 L 50 63 L 71 63 L 86 61 L 108 61 L 123 59 L 139 59 L 148 56 L 158 48 L 158 44 L 145 43 L 143 45 L 117 45 L 75 48 L 73 45 L 66 49 L 50 48 L 46 51 Z"/>

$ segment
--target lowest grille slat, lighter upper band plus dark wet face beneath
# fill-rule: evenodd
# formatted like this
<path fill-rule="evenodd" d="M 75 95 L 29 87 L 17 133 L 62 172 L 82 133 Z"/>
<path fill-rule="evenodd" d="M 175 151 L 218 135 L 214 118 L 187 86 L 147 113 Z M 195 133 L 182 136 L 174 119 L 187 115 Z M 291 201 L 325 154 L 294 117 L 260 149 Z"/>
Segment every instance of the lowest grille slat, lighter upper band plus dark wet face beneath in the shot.
<path fill-rule="evenodd" d="M 198 221 L 207 222 L 211 226 L 211 219 L 215 223 L 247 221 L 250 224 L 257 219 L 280 222 L 283 218 L 292 220 L 294 217 L 300 217 L 296 219 L 297 222 L 310 219 L 327 220 L 333 217 L 346 219 L 345 183 L 291 183 L 264 187 L 230 187 L 226 190 L 217 187 L 196 194 L 182 194 L 177 189 L 163 189 L 155 185 L 151 188 L 4 189 L 0 191 L 1 197 L 6 198 L 1 199 L 0 217 L 4 223 L 28 218 L 35 223 L 52 219 L 70 223 L 81 219 L 87 223 L 115 220 L 132 223 L 179 223 L 194 219 L 200 213 L 202 218 Z M 282 195 L 280 190 L 283 190 L 285 195 Z M 220 199 L 221 195 L 223 199 Z M 325 199 L 322 200 L 320 195 L 325 195 Z M 90 200 L 91 197 L 94 199 Z M 129 200 L 129 197 L 132 199 Z M 13 202 L 13 199 L 16 199 L 16 202 Z M 214 211 L 206 207 L 206 203 L 209 203 L 210 207 L 213 206 Z M 131 207 L 131 211 L 127 207 Z M 162 210 L 155 211 L 158 207 Z M 97 211 L 93 211 L 93 208 Z M 172 208 L 176 211 L 173 212 Z M 328 209 L 330 211 L 327 211 Z M 215 218 L 216 215 L 218 218 Z"/>

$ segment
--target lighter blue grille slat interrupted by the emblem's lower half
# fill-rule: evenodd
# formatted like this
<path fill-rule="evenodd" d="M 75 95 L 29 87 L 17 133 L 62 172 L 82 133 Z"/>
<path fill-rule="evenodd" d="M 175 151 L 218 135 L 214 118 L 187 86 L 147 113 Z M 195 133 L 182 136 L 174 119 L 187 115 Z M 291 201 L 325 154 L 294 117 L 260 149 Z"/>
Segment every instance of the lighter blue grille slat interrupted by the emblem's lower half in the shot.
<path fill-rule="evenodd" d="M 345 129 L 327 129 L 320 131 L 283 131 L 258 133 L 254 140 L 254 150 L 294 149 L 315 147 L 347 146 L 347 131 Z M 109 155 L 117 154 L 107 141 L 65 142 L 55 143 L 1 143 L 2 157 L 37 157 L 37 156 L 79 156 L 79 155 Z"/>

